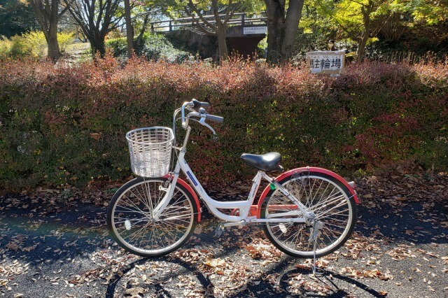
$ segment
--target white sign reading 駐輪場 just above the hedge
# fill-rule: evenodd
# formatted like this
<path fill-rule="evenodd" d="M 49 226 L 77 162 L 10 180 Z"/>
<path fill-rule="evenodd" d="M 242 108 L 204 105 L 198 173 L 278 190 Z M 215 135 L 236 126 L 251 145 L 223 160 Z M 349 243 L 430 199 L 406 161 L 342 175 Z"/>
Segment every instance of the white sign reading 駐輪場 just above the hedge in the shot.
<path fill-rule="evenodd" d="M 339 74 L 344 61 L 345 50 L 307 52 L 307 66 L 311 73 Z"/>

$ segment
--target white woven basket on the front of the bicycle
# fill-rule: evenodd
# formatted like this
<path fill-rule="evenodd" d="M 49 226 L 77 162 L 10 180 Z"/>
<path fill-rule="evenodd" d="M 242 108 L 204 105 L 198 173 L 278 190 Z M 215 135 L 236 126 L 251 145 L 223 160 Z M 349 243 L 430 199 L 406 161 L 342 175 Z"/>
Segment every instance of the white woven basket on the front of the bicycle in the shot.
<path fill-rule="evenodd" d="M 131 169 L 138 176 L 162 177 L 169 171 L 174 134 L 169 127 L 145 127 L 126 134 Z"/>

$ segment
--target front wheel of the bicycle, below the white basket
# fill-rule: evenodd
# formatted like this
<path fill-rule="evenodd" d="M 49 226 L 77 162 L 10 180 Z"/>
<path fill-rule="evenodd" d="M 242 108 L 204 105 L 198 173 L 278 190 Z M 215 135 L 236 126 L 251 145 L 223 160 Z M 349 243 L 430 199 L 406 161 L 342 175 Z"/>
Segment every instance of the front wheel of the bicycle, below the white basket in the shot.
<path fill-rule="evenodd" d="M 130 180 L 113 195 L 107 210 L 112 238 L 130 253 L 160 257 L 172 253 L 190 238 L 197 224 L 193 195 L 177 183 L 169 205 L 153 220 L 151 210 L 165 195 L 167 178 Z"/>

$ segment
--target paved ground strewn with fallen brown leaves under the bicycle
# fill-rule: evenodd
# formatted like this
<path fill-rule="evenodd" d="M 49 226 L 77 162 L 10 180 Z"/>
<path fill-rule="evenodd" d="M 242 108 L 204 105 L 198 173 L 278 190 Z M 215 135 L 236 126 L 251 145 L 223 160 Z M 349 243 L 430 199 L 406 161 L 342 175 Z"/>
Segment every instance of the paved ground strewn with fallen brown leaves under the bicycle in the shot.
<path fill-rule="evenodd" d="M 286 257 L 256 226 L 227 229 L 207 211 L 193 238 L 148 260 L 106 231 L 114 186 L 0 197 L 0 297 L 448 297 L 448 178 L 358 180 L 356 232 L 321 259 Z M 225 195 L 229 197 L 229 195 Z"/>

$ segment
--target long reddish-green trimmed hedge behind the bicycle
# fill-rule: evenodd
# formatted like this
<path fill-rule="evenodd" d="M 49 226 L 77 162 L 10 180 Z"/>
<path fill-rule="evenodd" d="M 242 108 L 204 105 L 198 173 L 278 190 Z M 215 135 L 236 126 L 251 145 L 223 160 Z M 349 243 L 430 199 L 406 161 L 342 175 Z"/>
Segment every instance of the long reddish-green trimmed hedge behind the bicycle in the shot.
<path fill-rule="evenodd" d="M 248 62 L 0 62 L 0 188 L 126 178 L 125 133 L 171 126 L 192 98 L 225 118 L 218 140 L 193 125 L 187 159 L 207 187 L 253 176 L 242 152 L 344 175 L 447 171 L 447 78 L 446 64 L 365 62 L 330 78 Z"/>

